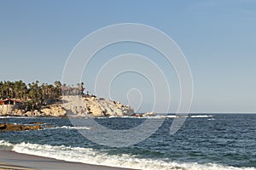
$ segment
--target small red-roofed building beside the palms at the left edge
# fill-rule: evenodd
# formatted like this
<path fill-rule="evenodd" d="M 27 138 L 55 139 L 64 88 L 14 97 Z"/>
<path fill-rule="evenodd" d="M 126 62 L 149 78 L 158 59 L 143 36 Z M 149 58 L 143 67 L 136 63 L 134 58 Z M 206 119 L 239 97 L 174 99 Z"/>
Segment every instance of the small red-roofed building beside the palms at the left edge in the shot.
<path fill-rule="evenodd" d="M 19 109 L 21 101 L 19 99 L 3 99 L 0 101 L 0 113 L 7 114 Z"/>

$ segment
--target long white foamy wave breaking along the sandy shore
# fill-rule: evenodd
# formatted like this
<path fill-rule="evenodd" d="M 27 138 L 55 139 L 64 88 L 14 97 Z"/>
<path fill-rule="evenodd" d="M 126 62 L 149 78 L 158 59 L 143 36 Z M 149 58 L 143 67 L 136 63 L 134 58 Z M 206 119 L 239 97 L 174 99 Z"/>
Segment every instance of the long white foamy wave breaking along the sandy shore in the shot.
<path fill-rule="evenodd" d="M 0 140 L 0 148 L 3 145 L 8 147 L 11 146 L 11 150 L 23 154 L 108 167 L 126 167 L 144 170 L 256 170 L 254 167 L 228 167 L 213 163 L 198 164 L 196 162 L 182 163 L 177 161 L 141 159 L 128 154 L 108 155 L 108 153 L 104 151 L 93 150 L 91 148 L 70 147 L 64 145 L 52 146 L 49 144 L 30 144 L 24 142 L 20 144 L 10 144 L 7 141 Z"/>

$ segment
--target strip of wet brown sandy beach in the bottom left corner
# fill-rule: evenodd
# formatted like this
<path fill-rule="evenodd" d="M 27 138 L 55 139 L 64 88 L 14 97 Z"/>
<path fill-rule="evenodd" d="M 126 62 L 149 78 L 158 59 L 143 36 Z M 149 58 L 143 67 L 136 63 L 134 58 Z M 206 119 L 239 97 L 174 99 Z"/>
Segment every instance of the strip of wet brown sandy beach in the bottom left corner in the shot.
<path fill-rule="evenodd" d="M 9 150 L 0 150 L 0 170 L 128 170 L 120 167 L 105 167 L 77 162 L 61 161 L 41 156 L 31 156 Z"/>

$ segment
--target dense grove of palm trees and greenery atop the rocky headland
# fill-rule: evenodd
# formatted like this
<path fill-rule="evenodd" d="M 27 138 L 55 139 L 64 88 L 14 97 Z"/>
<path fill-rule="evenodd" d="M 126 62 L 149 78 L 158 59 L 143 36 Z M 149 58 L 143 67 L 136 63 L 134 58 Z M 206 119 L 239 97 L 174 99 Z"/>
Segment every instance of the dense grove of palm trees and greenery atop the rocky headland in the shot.
<path fill-rule="evenodd" d="M 0 99 L 20 99 L 21 109 L 26 111 L 40 109 L 44 105 L 51 105 L 60 101 L 61 95 L 78 95 L 84 92 L 84 83 L 78 83 L 77 87 L 61 84 L 55 81 L 54 84 L 38 81 L 28 83 L 16 81 L 0 82 Z"/>

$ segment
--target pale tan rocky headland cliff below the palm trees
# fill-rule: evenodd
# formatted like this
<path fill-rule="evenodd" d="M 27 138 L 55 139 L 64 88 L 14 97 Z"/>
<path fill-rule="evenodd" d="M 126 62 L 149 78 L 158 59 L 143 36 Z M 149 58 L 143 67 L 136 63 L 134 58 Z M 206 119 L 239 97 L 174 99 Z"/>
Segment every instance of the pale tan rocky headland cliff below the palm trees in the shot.
<path fill-rule="evenodd" d="M 40 111 L 15 110 L 0 116 L 133 116 L 129 105 L 94 96 L 64 96 L 63 103 L 48 105 Z"/>

